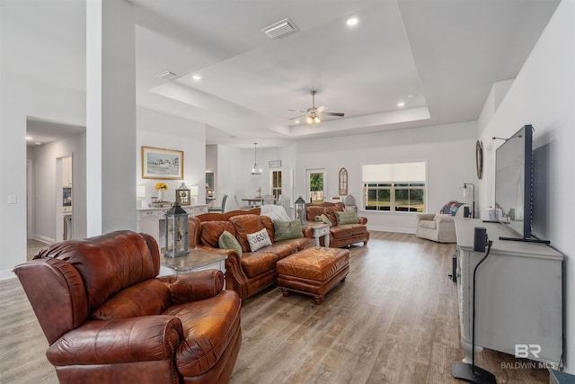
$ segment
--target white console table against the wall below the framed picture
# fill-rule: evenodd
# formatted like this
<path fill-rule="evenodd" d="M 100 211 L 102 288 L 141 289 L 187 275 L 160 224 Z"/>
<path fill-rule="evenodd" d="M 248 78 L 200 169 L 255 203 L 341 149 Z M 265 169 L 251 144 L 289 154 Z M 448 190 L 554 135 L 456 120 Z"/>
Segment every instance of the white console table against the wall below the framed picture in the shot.
<path fill-rule="evenodd" d="M 181 208 L 188 212 L 190 217 L 208 213 L 208 204 L 186 205 Z M 160 248 L 165 247 L 165 213 L 169 209 L 170 207 L 137 209 L 137 232 L 152 235 Z"/>

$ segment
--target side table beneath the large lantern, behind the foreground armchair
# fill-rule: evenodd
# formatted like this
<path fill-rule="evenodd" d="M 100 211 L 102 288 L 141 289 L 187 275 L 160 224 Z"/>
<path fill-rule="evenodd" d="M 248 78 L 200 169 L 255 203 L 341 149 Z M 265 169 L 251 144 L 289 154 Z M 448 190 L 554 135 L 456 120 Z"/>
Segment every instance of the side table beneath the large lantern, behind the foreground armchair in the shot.
<path fill-rule="evenodd" d="M 160 255 L 160 276 L 217 269 L 226 274 L 226 256 L 199 249 L 190 249 L 190 254 L 180 257 Z"/>

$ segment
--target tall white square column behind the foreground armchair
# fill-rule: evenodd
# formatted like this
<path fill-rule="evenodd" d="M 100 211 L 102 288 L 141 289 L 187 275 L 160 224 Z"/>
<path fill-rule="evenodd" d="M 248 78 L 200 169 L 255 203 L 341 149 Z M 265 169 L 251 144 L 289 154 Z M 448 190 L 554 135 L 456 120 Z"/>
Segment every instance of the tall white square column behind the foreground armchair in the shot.
<path fill-rule="evenodd" d="M 136 229 L 133 5 L 86 2 L 87 236 Z"/>

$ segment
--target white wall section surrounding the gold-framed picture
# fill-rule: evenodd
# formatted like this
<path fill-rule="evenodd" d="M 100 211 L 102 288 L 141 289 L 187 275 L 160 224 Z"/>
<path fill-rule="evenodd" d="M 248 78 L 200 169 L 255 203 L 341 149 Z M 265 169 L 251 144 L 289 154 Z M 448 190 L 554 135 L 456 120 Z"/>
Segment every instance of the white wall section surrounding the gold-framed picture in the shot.
<path fill-rule="evenodd" d="M 198 202 L 206 201 L 206 195 L 202 193 L 206 183 L 206 128 L 204 124 L 138 107 L 136 146 L 136 183 L 146 186 L 145 201 L 147 203 L 151 201 L 152 196 L 157 196 L 154 187 L 158 182 L 168 184 L 169 201 L 175 201 L 174 190 L 180 187 L 181 182 L 186 183 L 188 187 L 198 185 Z M 142 146 L 183 151 L 183 180 L 142 179 Z"/>

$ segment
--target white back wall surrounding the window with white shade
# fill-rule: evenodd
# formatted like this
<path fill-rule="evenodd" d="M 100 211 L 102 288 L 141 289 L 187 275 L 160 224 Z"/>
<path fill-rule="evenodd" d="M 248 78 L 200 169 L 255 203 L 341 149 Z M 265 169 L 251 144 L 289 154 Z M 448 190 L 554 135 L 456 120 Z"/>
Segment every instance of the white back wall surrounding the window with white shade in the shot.
<path fill-rule="evenodd" d="M 463 183 L 477 185 L 476 129 L 476 123 L 472 121 L 351 137 L 306 140 L 297 145 L 295 195 L 305 196 L 306 169 L 325 168 L 327 195 L 337 196 L 338 174 L 341 167 L 345 167 L 349 174 L 349 194 L 355 197 L 359 214 L 367 217 L 369 229 L 415 233 L 416 215 L 413 213 L 361 210 L 361 165 L 427 161 L 427 210 L 438 212 L 447 201 L 464 199 L 459 196 L 459 188 Z"/>

